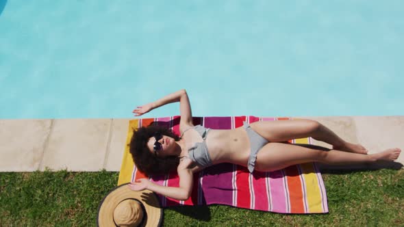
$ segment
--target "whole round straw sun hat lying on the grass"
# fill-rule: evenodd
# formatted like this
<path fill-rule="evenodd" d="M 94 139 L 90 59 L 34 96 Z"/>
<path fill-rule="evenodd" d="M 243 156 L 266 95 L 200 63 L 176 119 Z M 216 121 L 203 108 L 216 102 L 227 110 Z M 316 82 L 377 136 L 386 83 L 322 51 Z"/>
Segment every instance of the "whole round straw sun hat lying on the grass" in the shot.
<path fill-rule="evenodd" d="M 127 183 L 128 184 L 128 183 Z M 115 187 L 101 201 L 98 226 L 160 226 L 163 213 L 153 191 Z"/>

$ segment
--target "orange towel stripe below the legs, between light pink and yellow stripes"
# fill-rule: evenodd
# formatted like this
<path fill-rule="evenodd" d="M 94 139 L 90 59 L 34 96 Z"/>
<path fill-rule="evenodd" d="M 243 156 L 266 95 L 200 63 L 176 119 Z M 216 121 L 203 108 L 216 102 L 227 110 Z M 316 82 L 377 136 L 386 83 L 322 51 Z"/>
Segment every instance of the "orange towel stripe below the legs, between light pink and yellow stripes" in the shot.
<path fill-rule="evenodd" d="M 297 166 L 289 166 L 285 169 L 285 174 L 288 181 L 290 213 L 305 213 L 301 179 Z"/>

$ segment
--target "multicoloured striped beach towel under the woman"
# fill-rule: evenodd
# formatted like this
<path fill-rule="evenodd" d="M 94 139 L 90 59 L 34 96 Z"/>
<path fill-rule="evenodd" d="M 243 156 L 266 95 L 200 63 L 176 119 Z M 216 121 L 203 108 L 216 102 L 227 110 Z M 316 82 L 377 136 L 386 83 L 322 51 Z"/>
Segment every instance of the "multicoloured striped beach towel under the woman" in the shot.
<path fill-rule="evenodd" d="M 194 125 L 201 124 L 210 129 L 234 129 L 243 121 L 290 120 L 290 118 L 194 117 Z M 179 116 L 169 118 L 143 118 L 130 120 L 127 135 L 129 144 L 133 130 L 148 126 L 151 122 L 171 127 L 179 134 Z M 289 143 L 311 144 L 310 138 L 293 139 Z M 129 146 L 125 148 L 118 185 L 145 178 L 136 169 Z M 152 176 L 151 181 L 164 186 L 178 186 L 177 174 Z M 194 187 L 188 200 L 179 201 L 159 196 L 162 206 L 225 204 L 245 209 L 271 211 L 275 213 L 327 213 L 327 195 L 323 178 L 316 163 L 292 165 L 274 172 L 249 173 L 247 168 L 231 163 L 212 165 L 194 174 Z"/>

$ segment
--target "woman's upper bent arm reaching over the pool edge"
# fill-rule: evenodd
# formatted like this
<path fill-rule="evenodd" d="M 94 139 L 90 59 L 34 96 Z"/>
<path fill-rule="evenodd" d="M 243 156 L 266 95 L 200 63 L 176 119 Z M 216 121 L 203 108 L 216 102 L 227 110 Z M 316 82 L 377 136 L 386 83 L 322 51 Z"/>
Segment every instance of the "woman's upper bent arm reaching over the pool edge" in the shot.
<path fill-rule="evenodd" d="M 136 114 L 135 116 L 141 116 L 151 111 L 152 109 L 175 102 L 179 102 L 179 113 L 181 115 L 181 120 L 179 122 L 180 129 L 185 129 L 188 126 L 193 126 L 190 101 L 185 89 L 179 90 L 172 94 L 168 94 L 167 96 L 164 96 L 163 98 L 160 98 L 153 103 L 148 103 L 146 105 L 138 107 L 137 109 L 134 109 L 133 113 Z"/>

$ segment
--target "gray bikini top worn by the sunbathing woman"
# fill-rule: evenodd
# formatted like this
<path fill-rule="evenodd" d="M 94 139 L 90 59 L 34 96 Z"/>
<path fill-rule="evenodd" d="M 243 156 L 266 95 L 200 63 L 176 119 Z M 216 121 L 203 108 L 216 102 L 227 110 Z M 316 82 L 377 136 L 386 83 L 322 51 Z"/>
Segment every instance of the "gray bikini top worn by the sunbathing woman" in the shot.
<path fill-rule="evenodd" d="M 204 126 L 201 126 L 199 124 L 189 129 L 195 129 L 203 139 L 203 142 L 195 143 L 194 146 L 188 149 L 190 159 L 198 163 L 198 165 L 201 165 L 201 167 L 203 168 L 212 165 L 212 160 L 210 159 L 209 152 L 207 152 L 205 141 L 207 133 L 210 131 L 210 129 L 206 129 Z M 186 131 L 188 131 L 189 129 L 186 129 Z M 182 135 L 184 135 L 186 131 L 184 131 Z"/>

